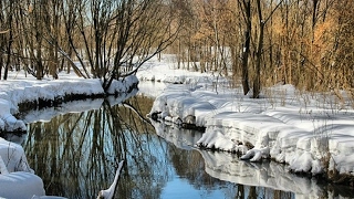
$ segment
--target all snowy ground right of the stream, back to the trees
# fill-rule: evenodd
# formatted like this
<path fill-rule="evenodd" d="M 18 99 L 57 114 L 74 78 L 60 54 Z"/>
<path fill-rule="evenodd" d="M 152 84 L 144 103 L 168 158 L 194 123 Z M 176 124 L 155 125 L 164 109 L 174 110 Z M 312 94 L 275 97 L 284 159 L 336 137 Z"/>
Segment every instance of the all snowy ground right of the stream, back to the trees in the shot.
<path fill-rule="evenodd" d="M 229 88 L 212 74 L 175 71 L 168 59 L 149 62 L 139 80 L 171 82 L 159 94 L 150 116 L 205 126 L 198 146 L 241 151 L 242 159 L 271 157 L 295 172 L 354 172 L 354 111 L 351 98 L 306 93 L 292 85 L 263 90 L 259 100 Z M 218 81 L 217 81 L 218 80 Z M 254 146 L 250 149 L 250 146 Z"/>

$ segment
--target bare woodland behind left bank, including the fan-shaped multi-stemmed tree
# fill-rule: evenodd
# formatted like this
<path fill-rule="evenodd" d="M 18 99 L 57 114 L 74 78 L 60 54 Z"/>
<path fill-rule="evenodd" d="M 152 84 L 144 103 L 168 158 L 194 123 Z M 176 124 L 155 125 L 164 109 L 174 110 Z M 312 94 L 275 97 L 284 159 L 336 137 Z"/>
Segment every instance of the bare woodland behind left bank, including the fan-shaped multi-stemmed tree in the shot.
<path fill-rule="evenodd" d="M 107 88 L 175 40 L 173 10 L 165 0 L 1 0 L 0 78 L 9 70 L 38 80 L 74 70 Z"/>

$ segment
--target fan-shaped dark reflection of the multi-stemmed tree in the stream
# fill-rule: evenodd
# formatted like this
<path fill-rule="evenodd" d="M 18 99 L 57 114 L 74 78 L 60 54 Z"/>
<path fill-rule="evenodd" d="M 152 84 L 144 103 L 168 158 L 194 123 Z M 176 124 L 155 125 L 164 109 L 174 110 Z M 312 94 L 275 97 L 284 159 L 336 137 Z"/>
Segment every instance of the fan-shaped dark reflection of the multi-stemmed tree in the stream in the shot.
<path fill-rule="evenodd" d="M 117 161 L 124 159 L 119 198 L 158 198 L 171 178 L 167 144 L 153 136 L 154 128 L 137 114 L 146 115 L 152 103 L 142 96 L 126 105 L 105 101 L 100 109 L 30 124 L 23 147 L 46 195 L 95 198 L 110 187 Z"/>

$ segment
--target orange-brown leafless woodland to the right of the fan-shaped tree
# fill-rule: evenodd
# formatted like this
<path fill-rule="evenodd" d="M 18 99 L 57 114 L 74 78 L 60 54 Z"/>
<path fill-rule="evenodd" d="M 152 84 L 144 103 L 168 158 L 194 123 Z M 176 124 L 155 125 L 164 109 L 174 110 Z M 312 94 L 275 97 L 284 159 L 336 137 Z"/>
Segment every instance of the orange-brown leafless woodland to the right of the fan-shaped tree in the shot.
<path fill-rule="evenodd" d="M 352 0 L 183 0 L 179 8 L 179 66 L 225 75 L 232 69 L 254 97 L 275 83 L 354 87 Z"/>

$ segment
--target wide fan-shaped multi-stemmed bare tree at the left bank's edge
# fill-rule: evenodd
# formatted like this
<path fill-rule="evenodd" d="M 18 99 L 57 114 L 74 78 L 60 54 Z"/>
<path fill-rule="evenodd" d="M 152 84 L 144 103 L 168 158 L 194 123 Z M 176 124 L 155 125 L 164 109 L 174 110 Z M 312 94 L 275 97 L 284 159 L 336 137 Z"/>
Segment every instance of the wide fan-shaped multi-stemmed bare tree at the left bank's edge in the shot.
<path fill-rule="evenodd" d="M 104 90 L 166 49 L 179 30 L 169 3 L 163 0 L 76 0 L 63 4 L 70 45 L 84 71 L 81 75 L 91 77 L 91 69 Z"/>

